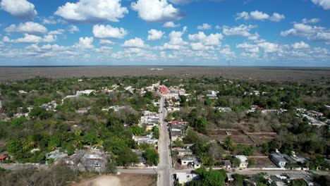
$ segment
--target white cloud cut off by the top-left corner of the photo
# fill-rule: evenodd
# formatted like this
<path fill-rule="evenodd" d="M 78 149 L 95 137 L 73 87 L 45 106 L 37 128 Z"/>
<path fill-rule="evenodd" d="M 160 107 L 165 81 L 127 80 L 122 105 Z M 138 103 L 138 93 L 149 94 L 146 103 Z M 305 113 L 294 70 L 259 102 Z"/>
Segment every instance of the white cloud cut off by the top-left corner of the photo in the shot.
<path fill-rule="evenodd" d="M 35 5 L 26 0 L 2 0 L 0 6 L 2 10 L 23 20 L 32 20 L 38 14 Z"/>

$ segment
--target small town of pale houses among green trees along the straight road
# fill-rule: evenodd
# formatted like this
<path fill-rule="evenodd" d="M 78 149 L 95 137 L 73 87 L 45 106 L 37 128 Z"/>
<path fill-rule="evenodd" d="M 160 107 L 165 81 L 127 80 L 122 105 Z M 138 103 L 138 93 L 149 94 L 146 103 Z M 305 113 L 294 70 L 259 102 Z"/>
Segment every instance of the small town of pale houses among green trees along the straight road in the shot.
<path fill-rule="evenodd" d="M 72 80 L 79 87 L 99 81 Z M 304 128 L 323 128 L 329 134 L 330 106 L 322 106 L 327 116 L 319 110 L 298 107 L 301 105 L 291 107 L 283 102 L 259 101 L 262 105 L 257 105 L 258 101 L 254 101 L 247 105 L 248 101 L 243 100 L 245 107 L 238 107 L 228 104 L 227 101 L 233 100 L 222 96 L 230 94 L 224 88 L 240 89 L 242 97 L 255 100 L 272 93 L 267 88 L 248 92 L 247 88 L 241 88 L 247 86 L 245 82 L 226 79 L 219 80 L 223 82 L 222 90 L 209 89 L 207 82 L 196 84 L 202 90 L 169 81 L 163 79 L 140 88 L 127 83 L 92 86 L 94 89 L 78 89 L 73 94 L 54 89 L 49 96 L 44 96 L 47 90 L 18 89 L 15 94 L 23 100 L 39 96 L 31 99 L 31 105 L 23 104 L 12 110 L 8 104 L 20 103 L 1 96 L 2 125 L 16 130 L 35 120 L 32 125 L 35 134 L 22 134 L 26 137 L 6 142 L 8 135 L 1 127 L 0 168 L 47 169 L 58 165 L 78 172 L 157 174 L 157 185 L 190 185 L 207 179 L 202 171 L 216 171 L 217 179 L 223 179 L 226 185 L 319 185 L 313 175 L 329 173 L 329 156 L 313 155 L 326 154 L 329 146 L 315 147 L 317 141 L 313 141 L 307 142 L 310 147 L 306 150 L 292 147 L 279 141 L 288 135 L 280 138 L 275 127 L 271 129 L 262 123 L 290 117 L 288 113 L 291 113 L 295 118 L 288 119 L 305 123 Z M 3 92 L 7 87 L 19 86 L 1 85 Z M 280 87 L 278 91 L 284 89 Z M 67 112 L 66 116 L 61 116 L 63 111 Z M 201 111 L 207 115 L 199 116 Z M 104 116 L 109 119 L 102 119 Z M 59 121 L 50 119 L 54 117 L 61 120 L 63 129 L 56 129 L 54 124 Z M 251 126 L 251 122 L 259 126 Z M 67 133 L 45 135 L 42 130 L 46 126 L 49 128 L 46 130 L 55 127 L 54 130 Z M 111 132 L 117 132 L 118 136 Z"/>

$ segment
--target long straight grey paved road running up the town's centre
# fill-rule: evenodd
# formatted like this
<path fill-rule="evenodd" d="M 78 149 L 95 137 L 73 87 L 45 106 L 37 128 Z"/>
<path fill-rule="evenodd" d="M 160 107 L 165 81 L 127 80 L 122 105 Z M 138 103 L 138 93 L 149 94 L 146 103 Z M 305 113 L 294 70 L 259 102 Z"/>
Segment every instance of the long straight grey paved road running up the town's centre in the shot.
<path fill-rule="evenodd" d="M 164 122 L 166 118 L 166 109 L 164 108 L 165 99 L 161 97 L 161 114 L 159 116 L 161 127 L 158 142 L 159 164 L 158 164 L 158 186 L 171 186 L 171 154 L 169 151 L 169 132 L 167 130 L 167 123 Z"/>

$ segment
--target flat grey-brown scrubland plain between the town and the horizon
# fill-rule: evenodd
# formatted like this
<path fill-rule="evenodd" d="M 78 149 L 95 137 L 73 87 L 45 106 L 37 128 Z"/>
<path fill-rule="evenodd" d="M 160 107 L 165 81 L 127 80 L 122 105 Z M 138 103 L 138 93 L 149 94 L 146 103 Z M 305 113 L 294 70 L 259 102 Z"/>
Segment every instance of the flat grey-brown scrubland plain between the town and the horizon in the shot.
<path fill-rule="evenodd" d="M 159 69 L 158 69 L 159 68 Z M 225 77 L 245 80 L 330 79 L 330 68 L 274 68 L 219 66 L 71 66 L 0 67 L 0 80 L 25 80 L 36 76 L 49 78 L 160 75 L 176 77 Z"/>

